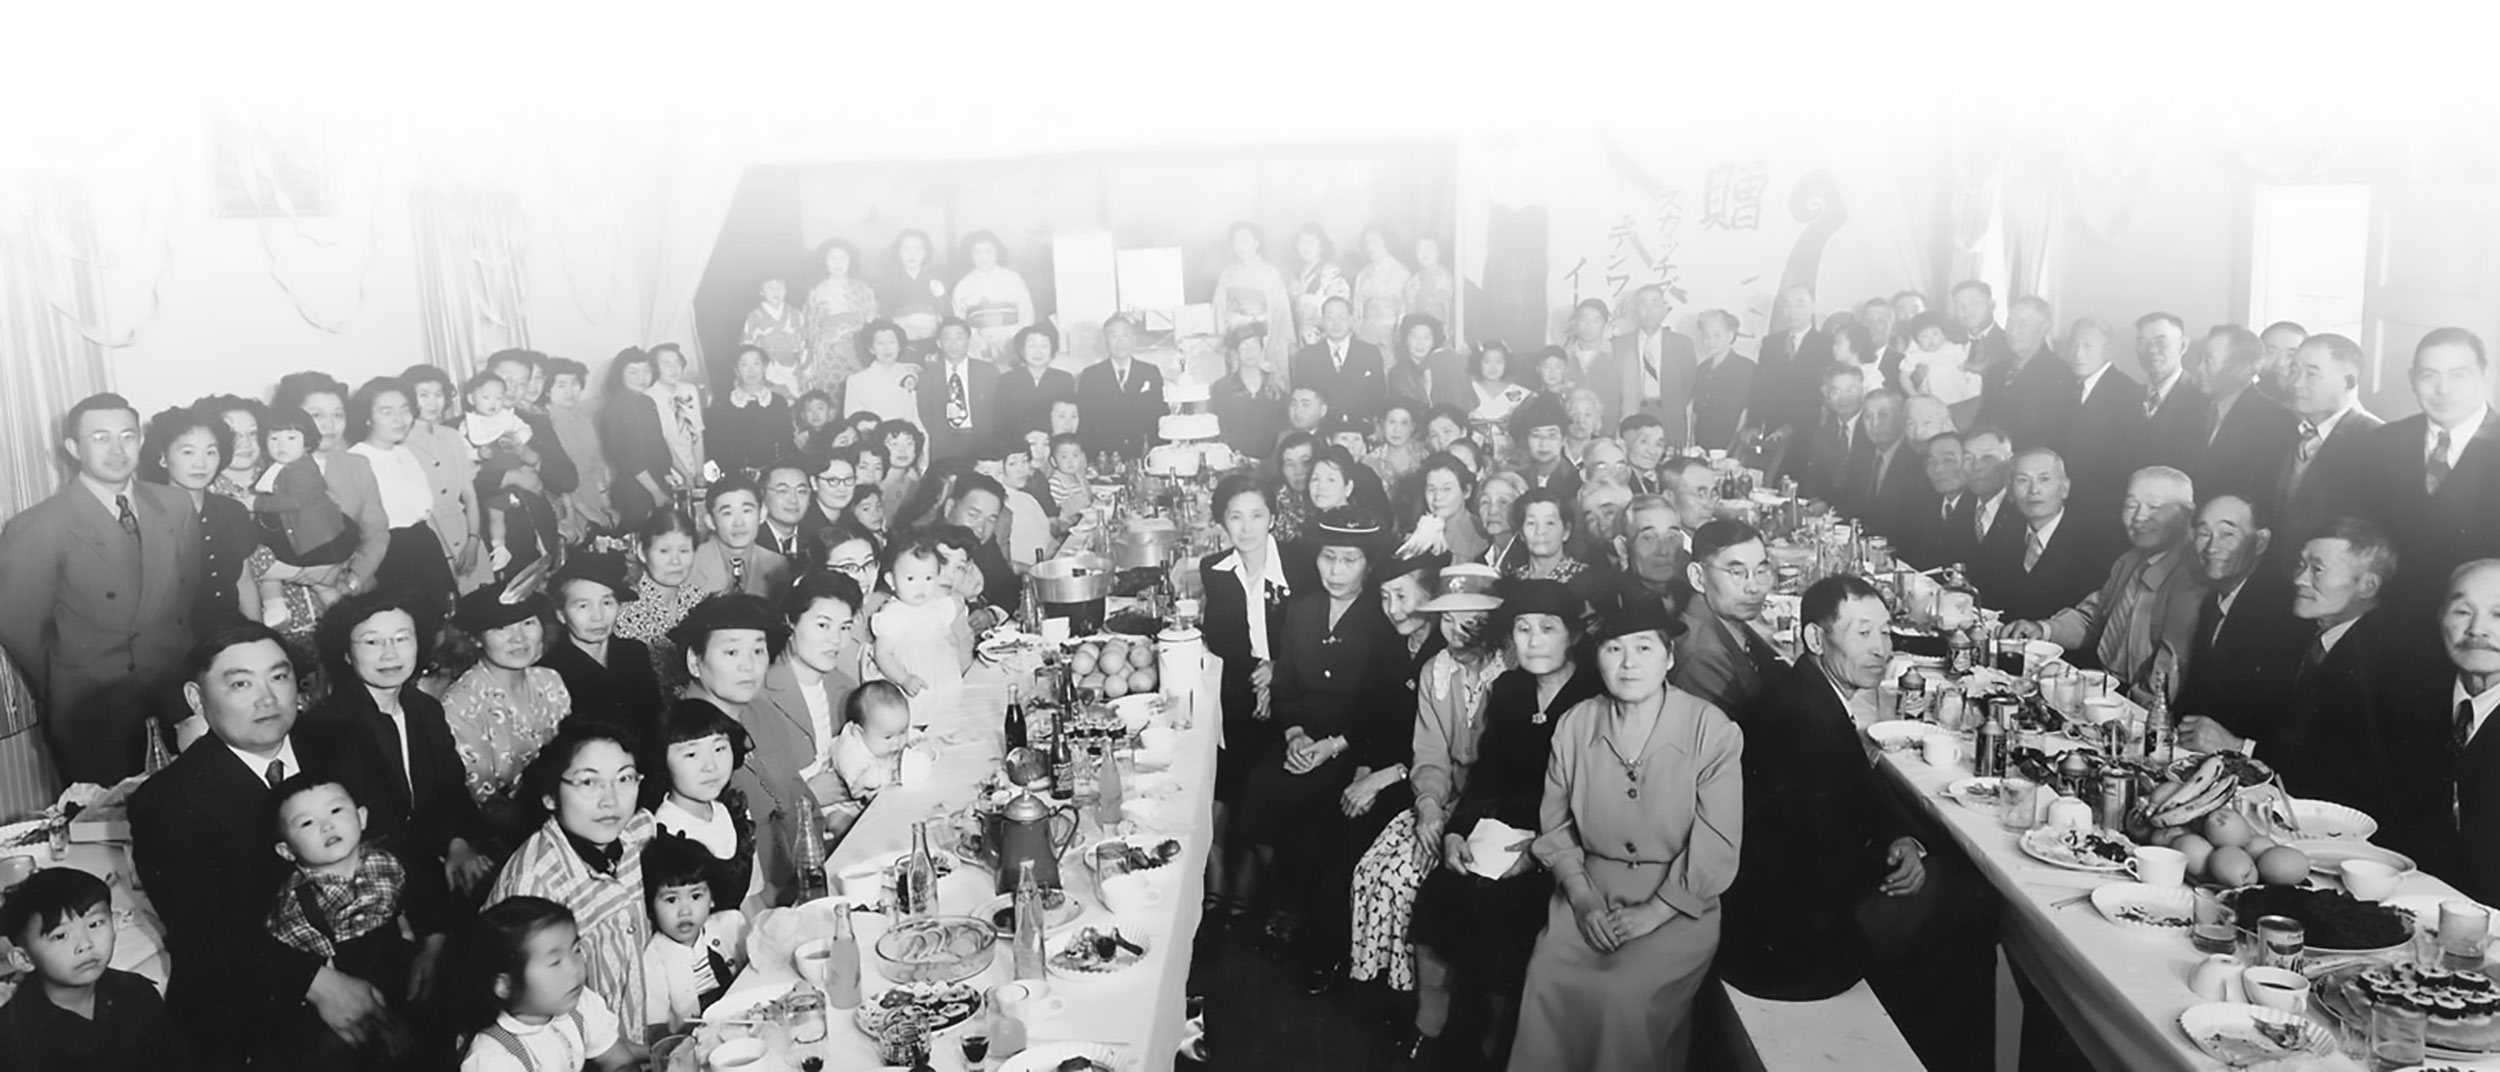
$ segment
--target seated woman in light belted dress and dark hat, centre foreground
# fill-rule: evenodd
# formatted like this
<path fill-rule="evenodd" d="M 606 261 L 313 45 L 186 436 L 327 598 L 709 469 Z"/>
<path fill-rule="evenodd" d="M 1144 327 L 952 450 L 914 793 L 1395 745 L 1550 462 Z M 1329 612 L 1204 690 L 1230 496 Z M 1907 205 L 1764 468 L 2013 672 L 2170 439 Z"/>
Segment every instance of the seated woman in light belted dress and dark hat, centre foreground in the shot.
<path fill-rule="evenodd" d="M 1685 1067 L 1745 820 L 1745 735 L 1668 685 L 1682 625 L 1638 600 L 1598 630 L 1605 695 L 1552 735 L 1535 857 L 1555 875 L 1512 1070 Z"/>

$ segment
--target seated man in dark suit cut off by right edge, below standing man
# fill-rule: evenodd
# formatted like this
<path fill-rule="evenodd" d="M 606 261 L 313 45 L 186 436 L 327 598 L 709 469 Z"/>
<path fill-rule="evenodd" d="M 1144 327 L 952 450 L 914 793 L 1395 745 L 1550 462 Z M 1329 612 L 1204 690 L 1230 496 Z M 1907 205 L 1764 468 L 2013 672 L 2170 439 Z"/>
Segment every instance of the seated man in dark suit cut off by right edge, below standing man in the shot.
<path fill-rule="evenodd" d="M 2435 725 L 2445 732 L 2455 817 L 2455 852 L 2442 872 L 2465 897 L 2500 900 L 2500 560 L 2458 567 L 2448 582 L 2440 640 L 2455 680 L 2435 692 Z"/>

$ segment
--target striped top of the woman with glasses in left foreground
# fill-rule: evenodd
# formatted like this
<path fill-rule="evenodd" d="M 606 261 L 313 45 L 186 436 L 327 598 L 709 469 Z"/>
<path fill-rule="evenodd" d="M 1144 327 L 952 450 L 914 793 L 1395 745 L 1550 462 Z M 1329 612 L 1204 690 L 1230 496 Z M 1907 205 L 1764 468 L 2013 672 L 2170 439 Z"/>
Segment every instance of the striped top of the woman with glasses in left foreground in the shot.
<path fill-rule="evenodd" d="M 660 830 L 650 812 L 632 812 L 618 842 L 625 852 L 612 875 L 590 870 L 590 862 L 572 850 L 565 830 L 548 817 L 530 840 L 512 850 L 512 860 L 495 872 L 495 885 L 485 902 L 510 897 L 545 897 L 572 910 L 572 922 L 582 935 L 582 967 L 588 985 L 608 1007 L 625 1020 L 638 1020 L 645 1010 L 642 947 L 650 945 L 650 915 L 642 907 L 642 845 Z M 640 1035 L 642 1025 L 625 1025 Z"/>

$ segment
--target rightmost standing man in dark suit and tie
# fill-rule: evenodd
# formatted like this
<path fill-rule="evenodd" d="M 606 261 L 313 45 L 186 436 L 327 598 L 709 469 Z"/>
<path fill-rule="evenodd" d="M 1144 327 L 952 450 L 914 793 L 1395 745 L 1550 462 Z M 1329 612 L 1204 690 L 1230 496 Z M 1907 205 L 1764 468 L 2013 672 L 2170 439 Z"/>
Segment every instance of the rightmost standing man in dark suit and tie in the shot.
<path fill-rule="evenodd" d="M 2390 597 L 2408 612 L 2440 600 L 2448 570 L 2500 555 L 2500 420 L 2482 340 L 2440 327 L 2412 347 L 2412 400 L 2422 412 L 2362 440 L 2352 507 L 2388 530 L 2408 580 Z"/>

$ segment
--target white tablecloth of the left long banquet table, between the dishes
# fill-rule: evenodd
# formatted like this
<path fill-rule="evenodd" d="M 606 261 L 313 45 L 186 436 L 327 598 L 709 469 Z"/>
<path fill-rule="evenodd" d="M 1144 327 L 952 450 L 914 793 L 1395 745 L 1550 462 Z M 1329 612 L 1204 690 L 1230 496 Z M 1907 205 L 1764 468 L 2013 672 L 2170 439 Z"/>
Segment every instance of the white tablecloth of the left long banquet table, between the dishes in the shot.
<path fill-rule="evenodd" d="M 1185 985 L 1190 980 L 1190 947 L 1198 935 L 1200 902 L 1205 897 L 1205 865 L 1208 847 L 1215 835 L 1212 800 L 1215 800 L 1215 747 L 1220 740 L 1222 717 L 1215 712 L 1212 697 L 1218 695 L 1220 660 L 1215 655 L 1205 657 L 1202 690 L 1198 692 L 1195 712 L 1190 725 L 1178 732 L 1178 745 L 1172 750 L 1172 762 L 1168 770 L 1145 770 L 1138 775 L 1138 785 L 1130 787 L 1128 800 L 1150 800 L 1150 805 L 1138 805 L 1135 812 L 1142 822 L 1138 830 L 1178 837 L 1182 845 L 1180 860 L 1158 867 L 1162 902 L 1145 912 L 1145 932 L 1150 937 L 1148 955 L 1135 967 L 1115 975 L 1092 980 L 1070 980 L 1050 972 L 1050 997 L 1060 1002 L 1060 1010 L 1045 1017 L 1035 1017 L 1028 1030 L 1035 1045 L 1040 1042 L 1100 1042 L 1120 1052 L 1122 1070 L 1160 1072 L 1170 1070 L 1175 1052 L 1180 1050 L 1180 1032 L 1185 1020 Z M 962 705 L 955 707 L 952 717 L 938 717 L 925 730 L 932 740 L 942 742 L 935 765 L 920 780 L 900 787 L 888 787 L 868 805 L 860 822 L 850 827 L 840 847 L 832 852 L 828 865 L 830 875 L 842 875 L 858 870 L 862 862 L 872 862 L 880 855 L 892 855 L 910 850 L 912 825 L 920 820 L 942 820 L 950 812 L 962 810 L 980 792 L 980 782 L 998 767 L 1002 747 L 1000 720 L 1008 707 L 1008 682 L 1025 682 L 1030 667 L 1002 670 L 988 662 L 978 665 L 965 677 Z M 1170 692 L 1170 690 L 1168 690 Z M 1158 722 L 1170 717 L 1170 705 Z M 932 850 L 938 845 L 938 830 L 942 822 L 932 822 Z M 1102 832 L 1088 817 L 1072 852 L 1060 860 L 1062 885 L 1085 902 L 1085 917 L 1072 927 L 1102 925 L 1110 927 L 1112 917 L 1102 907 L 1102 897 L 1092 887 L 1092 870 L 1085 865 L 1085 847 L 1092 845 Z M 938 910 L 942 915 L 972 915 L 992 897 L 990 872 L 980 867 L 958 867 L 952 875 L 938 882 Z M 858 945 L 860 945 L 860 985 L 868 1002 L 888 990 L 882 975 L 878 975 L 878 957 L 872 952 L 878 935 L 885 932 L 888 920 L 875 912 L 855 912 Z M 1125 935 L 1135 935 L 1140 917 L 1120 917 L 1118 927 Z M 1052 940 L 1055 942 L 1062 937 Z M 1008 952 L 1005 937 L 995 962 L 968 980 L 972 987 L 988 990 L 992 985 L 1008 982 Z M 795 982 L 790 965 L 748 965 L 738 982 L 712 1005 L 708 1012 L 738 1015 L 750 1010 L 755 1002 L 780 997 Z M 988 1015 L 988 1012 L 982 1012 Z M 885 1062 L 878 1060 L 870 1040 L 855 1027 L 852 1012 L 830 1010 L 830 1030 L 822 1045 L 798 1047 L 792 1062 L 805 1055 L 818 1055 L 825 1060 L 828 1072 L 845 1070 L 878 1070 Z M 975 1025 L 980 1017 L 975 1017 Z M 968 1025 L 970 1027 L 970 1025 Z M 930 1047 L 930 1065 L 938 1072 L 962 1070 L 962 1052 L 955 1037 L 962 1032 L 940 1032 Z M 998 1067 L 1000 1057 L 990 1057 L 990 1067 Z"/>

